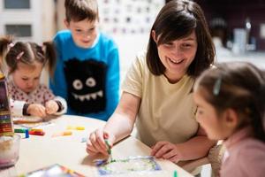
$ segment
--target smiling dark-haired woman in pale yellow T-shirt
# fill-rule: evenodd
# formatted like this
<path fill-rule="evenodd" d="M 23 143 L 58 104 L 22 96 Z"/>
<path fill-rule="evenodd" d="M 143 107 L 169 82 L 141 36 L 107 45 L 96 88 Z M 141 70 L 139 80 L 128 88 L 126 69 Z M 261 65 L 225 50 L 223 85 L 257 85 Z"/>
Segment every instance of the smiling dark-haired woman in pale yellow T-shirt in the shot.
<path fill-rule="evenodd" d="M 202 158 L 215 144 L 194 116 L 193 83 L 213 62 L 215 49 L 203 12 L 192 1 L 163 6 L 150 32 L 148 51 L 126 75 L 116 111 L 87 140 L 87 153 L 107 154 L 110 145 L 130 135 L 134 122 L 141 142 L 155 158 L 174 163 Z"/>

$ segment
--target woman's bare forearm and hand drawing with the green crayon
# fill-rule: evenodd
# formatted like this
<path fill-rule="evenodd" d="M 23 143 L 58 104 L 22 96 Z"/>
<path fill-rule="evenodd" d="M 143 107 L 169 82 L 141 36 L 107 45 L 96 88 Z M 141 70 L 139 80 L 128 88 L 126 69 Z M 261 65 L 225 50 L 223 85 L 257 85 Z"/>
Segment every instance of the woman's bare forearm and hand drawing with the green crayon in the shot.
<path fill-rule="evenodd" d="M 105 127 L 102 130 L 97 129 L 90 134 L 87 140 L 87 152 L 89 154 L 98 152 L 107 154 L 107 146 L 104 139 L 108 139 L 110 146 L 112 146 L 114 142 L 130 135 L 139 107 L 140 97 L 124 92 L 116 111 L 112 114 Z"/>

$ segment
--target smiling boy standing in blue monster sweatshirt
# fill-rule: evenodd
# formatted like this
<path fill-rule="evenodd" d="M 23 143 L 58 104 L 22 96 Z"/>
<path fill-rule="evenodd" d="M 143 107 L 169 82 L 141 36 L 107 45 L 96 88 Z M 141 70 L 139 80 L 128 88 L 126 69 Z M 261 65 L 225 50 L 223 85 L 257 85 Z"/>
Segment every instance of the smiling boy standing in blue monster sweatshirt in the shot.
<path fill-rule="evenodd" d="M 67 114 L 107 120 L 119 93 L 117 45 L 98 31 L 96 0 L 65 0 L 69 30 L 57 33 L 57 67 L 50 89 L 68 104 Z"/>

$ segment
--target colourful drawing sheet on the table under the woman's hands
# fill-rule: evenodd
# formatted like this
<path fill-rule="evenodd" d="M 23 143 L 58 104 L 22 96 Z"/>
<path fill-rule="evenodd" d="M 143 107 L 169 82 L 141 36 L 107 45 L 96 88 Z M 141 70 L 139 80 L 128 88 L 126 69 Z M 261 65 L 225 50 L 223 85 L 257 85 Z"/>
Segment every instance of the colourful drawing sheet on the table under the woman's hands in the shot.
<path fill-rule="evenodd" d="M 155 158 L 149 156 L 115 159 L 110 162 L 97 160 L 95 165 L 100 175 L 161 170 L 161 167 L 155 162 Z"/>

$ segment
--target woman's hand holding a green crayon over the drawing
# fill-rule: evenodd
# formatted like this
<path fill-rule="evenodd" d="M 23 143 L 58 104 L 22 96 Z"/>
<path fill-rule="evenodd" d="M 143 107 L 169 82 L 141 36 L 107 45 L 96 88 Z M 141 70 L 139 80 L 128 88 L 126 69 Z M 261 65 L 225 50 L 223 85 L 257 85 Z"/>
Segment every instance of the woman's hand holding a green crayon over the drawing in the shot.
<path fill-rule="evenodd" d="M 87 153 L 90 155 L 94 155 L 96 153 L 102 153 L 104 155 L 108 155 L 108 146 L 105 143 L 105 139 L 108 139 L 110 143 L 110 147 L 113 146 L 114 137 L 103 132 L 102 129 L 96 129 L 92 132 L 87 138 Z"/>

